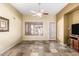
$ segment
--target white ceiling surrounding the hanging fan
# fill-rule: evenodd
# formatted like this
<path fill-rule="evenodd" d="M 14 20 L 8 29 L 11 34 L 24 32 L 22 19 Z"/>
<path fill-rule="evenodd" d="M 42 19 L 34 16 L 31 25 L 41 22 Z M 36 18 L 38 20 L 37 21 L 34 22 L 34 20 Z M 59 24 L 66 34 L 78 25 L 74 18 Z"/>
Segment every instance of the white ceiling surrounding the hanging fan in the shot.
<path fill-rule="evenodd" d="M 40 9 L 45 9 L 49 12 L 49 14 L 56 15 L 67 4 L 68 3 L 41 3 Z M 24 15 L 29 14 L 31 10 L 39 10 L 38 3 L 12 3 L 11 5 Z"/>

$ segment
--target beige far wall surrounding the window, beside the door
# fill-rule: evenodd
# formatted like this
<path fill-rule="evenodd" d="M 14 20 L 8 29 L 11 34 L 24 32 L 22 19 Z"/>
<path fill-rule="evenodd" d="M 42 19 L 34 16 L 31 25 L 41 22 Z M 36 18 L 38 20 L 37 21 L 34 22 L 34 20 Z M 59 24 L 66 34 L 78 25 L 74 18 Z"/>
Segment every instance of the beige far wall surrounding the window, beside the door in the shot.
<path fill-rule="evenodd" d="M 24 16 L 23 17 L 23 40 L 48 40 L 49 39 L 49 22 L 55 22 L 56 19 L 52 15 L 38 17 L 38 16 Z M 43 22 L 43 36 L 26 36 L 25 22 Z"/>

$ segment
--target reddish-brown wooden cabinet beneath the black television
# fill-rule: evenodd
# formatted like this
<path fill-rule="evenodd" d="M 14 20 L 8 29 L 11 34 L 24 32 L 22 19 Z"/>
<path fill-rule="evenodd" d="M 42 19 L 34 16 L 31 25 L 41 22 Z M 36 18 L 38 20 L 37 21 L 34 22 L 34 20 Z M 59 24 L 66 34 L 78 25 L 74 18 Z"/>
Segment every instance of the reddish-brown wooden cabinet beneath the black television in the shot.
<path fill-rule="evenodd" d="M 70 36 L 71 48 L 75 49 L 79 52 L 79 37 L 78 36 Z"/>

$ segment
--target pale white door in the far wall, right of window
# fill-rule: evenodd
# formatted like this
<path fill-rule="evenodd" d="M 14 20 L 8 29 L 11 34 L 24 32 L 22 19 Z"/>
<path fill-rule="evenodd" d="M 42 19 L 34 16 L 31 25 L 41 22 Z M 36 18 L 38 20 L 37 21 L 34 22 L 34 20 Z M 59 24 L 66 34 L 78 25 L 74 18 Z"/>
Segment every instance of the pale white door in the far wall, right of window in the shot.
<path fill-rule="evenodd" d="M 56 40 L 56 22 L 49 22 L 49 40 Z"/>

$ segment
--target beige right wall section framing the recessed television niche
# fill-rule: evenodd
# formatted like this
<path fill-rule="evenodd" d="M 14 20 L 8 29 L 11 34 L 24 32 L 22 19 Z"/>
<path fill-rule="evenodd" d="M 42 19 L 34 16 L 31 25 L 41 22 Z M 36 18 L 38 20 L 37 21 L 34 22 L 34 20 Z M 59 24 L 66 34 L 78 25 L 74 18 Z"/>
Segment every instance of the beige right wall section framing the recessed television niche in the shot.
<path fill-rule="evenodd" d="M 57 15 L 57 39 L 61 44 L 64 43 L 65 40 L 65 14 L 72 12 L 76 7 L 78 7 L 78 3 L 68 4 L 65 8 L 63 8 Z M 61 28 L 61 29 L 60 29 Z"/>

